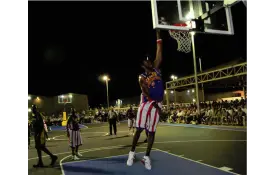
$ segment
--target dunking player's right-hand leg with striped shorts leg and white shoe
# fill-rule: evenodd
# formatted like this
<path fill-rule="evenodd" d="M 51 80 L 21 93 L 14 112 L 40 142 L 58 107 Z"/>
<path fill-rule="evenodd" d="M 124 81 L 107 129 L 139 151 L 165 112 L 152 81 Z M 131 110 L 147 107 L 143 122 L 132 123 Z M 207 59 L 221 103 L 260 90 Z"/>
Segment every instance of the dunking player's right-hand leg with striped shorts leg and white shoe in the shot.
<path fill-rule="evenodd" d="M 150 160 L 150 153 L 155 141 L 155 132 L 156 132 L 156 128 L 157 128 L 157 124 L 159 122 L 159 111 L 156 108 L 153 108 L 150 111 L 150 114 L 148 116 L 149 118 L 149 123 L 147 125 L 147 130 L 148 130 L 148 144 L 147 144 L 147 150 L 146 150 L 146 154 L 142 159 L 142 162 L 145 165 L 145 168 L 150 170 L 152 168 L 151 166 L 151 160 Z"/>

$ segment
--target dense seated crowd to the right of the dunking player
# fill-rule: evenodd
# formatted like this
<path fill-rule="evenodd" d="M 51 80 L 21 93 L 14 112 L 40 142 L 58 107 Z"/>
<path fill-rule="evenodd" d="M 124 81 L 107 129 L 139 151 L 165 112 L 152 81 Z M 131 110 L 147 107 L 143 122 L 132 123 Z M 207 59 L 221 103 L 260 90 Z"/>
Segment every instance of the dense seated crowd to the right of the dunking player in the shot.
<path fill-rule="evenodd" d="M 161 121 L 168 123 L 246 126 L 246 100 L 213 101 L 200 103 L 200 113 L 195 104 L 164 108 Z"/>

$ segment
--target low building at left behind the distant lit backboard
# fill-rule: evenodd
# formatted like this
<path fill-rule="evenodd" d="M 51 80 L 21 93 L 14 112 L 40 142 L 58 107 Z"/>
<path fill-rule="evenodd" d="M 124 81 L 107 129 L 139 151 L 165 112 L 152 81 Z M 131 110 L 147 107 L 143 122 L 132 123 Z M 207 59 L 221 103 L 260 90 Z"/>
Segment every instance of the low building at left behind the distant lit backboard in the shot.
<path fill-rule="evenodd" d="M 69 112 L 71 108 L 75 108 L 76 111 L 81 112 L 88 110 L 88 96 L 83 94 L 61 94 L 58 96 L 37 96 L 28 95 L 28 111 L 31 111 L 31 106 L 35 104 L 40 112 L 44 112 L 46 115 L 52 115 L 53 113 L 63 112 L 64 109 Z"/>

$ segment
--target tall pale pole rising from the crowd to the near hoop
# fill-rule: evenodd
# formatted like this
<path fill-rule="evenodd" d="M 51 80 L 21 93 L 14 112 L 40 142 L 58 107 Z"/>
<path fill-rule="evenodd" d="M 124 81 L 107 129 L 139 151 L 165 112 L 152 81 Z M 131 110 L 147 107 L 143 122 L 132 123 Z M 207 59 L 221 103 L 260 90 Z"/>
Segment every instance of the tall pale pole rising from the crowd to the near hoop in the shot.
<path fill-rule="evenodd" d="M 192 39 L 192 52 L 193 52 L 193 61 L 194 61 L 194 76 L 195 76 L 195 87 L 196 87 L 196 104 L 198 109 L 198 114 L 200 114 L 200 102 L 199 102 L 199 86 L 198 86 L 198 75 L 197 75 L 197 62 L 196 62 L 196 51 L 195 51 L 195 32 L 190 32 Z"/>

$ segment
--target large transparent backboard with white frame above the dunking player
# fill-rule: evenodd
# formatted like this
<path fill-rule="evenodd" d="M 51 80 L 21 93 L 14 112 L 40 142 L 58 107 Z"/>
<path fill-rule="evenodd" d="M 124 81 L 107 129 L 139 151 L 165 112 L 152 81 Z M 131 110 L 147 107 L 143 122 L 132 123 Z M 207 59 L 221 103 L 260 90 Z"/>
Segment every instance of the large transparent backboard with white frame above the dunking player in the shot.
<path fill-rule="evenodd" d="M 237 2 L 238 0 L 151 0 L 153 27 L 185 31 L 199 27 L 199 31 L 203 33 L 233 35 L 231 6 Z"/>

